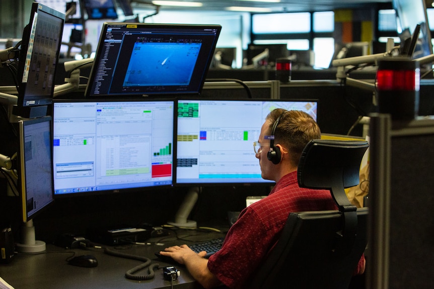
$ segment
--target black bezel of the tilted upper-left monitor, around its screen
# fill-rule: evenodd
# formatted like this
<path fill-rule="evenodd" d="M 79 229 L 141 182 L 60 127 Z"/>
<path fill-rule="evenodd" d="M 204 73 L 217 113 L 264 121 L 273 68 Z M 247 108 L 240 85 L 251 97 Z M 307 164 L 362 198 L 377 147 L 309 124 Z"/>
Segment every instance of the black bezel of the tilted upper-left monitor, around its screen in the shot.
<path fill-rule="evenodd" d="M 26 104 L 28 97 L 26 96 L 27 93 L 27 86 L 28 83 L 27 81 L 23 81 L 23 77 L 25 74 L 25 66 L 26 66 L 26 59 L 27 59 L 27 54 L 28 54 L 28 48 L 29 48 L 29 42 L 31 41 L 31 34 L 32 34 L 32 26 L 33 26 L 33 19 L 35 17 L 35 15 L 39 12 L 42 13 L 46 13 L 49 14 L 50 16 L 53 16 L 55 18 L 58 18 L 59 20 L 62 21 L 61 23 L 61 31 L 60 31 L 60 35 L 59 36 L 59 42 L 57 44 L 57 52 L 56 52 L 56 56 L 54 60 L 54 68 L 53 68 L 53 79 L 52 79 L 52 86 L 50 87 L 49 91 L 47 91 L 46 94 L 43 95 L 43 97 L 38 97 L 37 100 L 40 103 L 35 103 L 35 104 Z M 52 103 L 52 99 L 53 99 L 53 92 L 54 92 L 54 79 L 55 79 L 55 75 L 56 75 L 56 71 L 57 71 L 57 64 L 59 61 L 59 55 L 60 55 L 60 46 L 61 46 L 61 39 L 62 39 L 62 35 L 63 35 L 63 27 L 65 24 L 65 15 L 61 12 L 58 12 L 52 8 L 49 8 L 48 6 L 45 6 L 43 4 L 40 4 L 38 2 L 33 2 L 32 3 L 32 8 L 31 8 L 31 12 L 30 12 L 30 20 L 28 25 L 24 28 L 23 30 L 23 38 L 22 38 L 22 42 L 21 42 L 21 52 L 20 52 L 20 56 L 19 56 L 19 62 L 18 62 L 18 72 L 17 72 L 17 77 L 18 77 L 18 101 L 17 101 L 17 111 L 20 111 L 20 109 L 25 110 L 27 108 L 32 108 L 32 107 L 38 107 L 38 106 L 47 106 L 50 105 Z M 37 25 L 37 24 L 36 24 Z M 32 97 L 33 99 L 35 99 L 35 97 Z M 29 116 L 26 115 L 25 112 L 23 113 L 23 117 L 28 118 Z M 18 113 L 18 115 L 21 115 L 21 113 Z M 44 115 L 45 116 L 45 115 Z"/>

